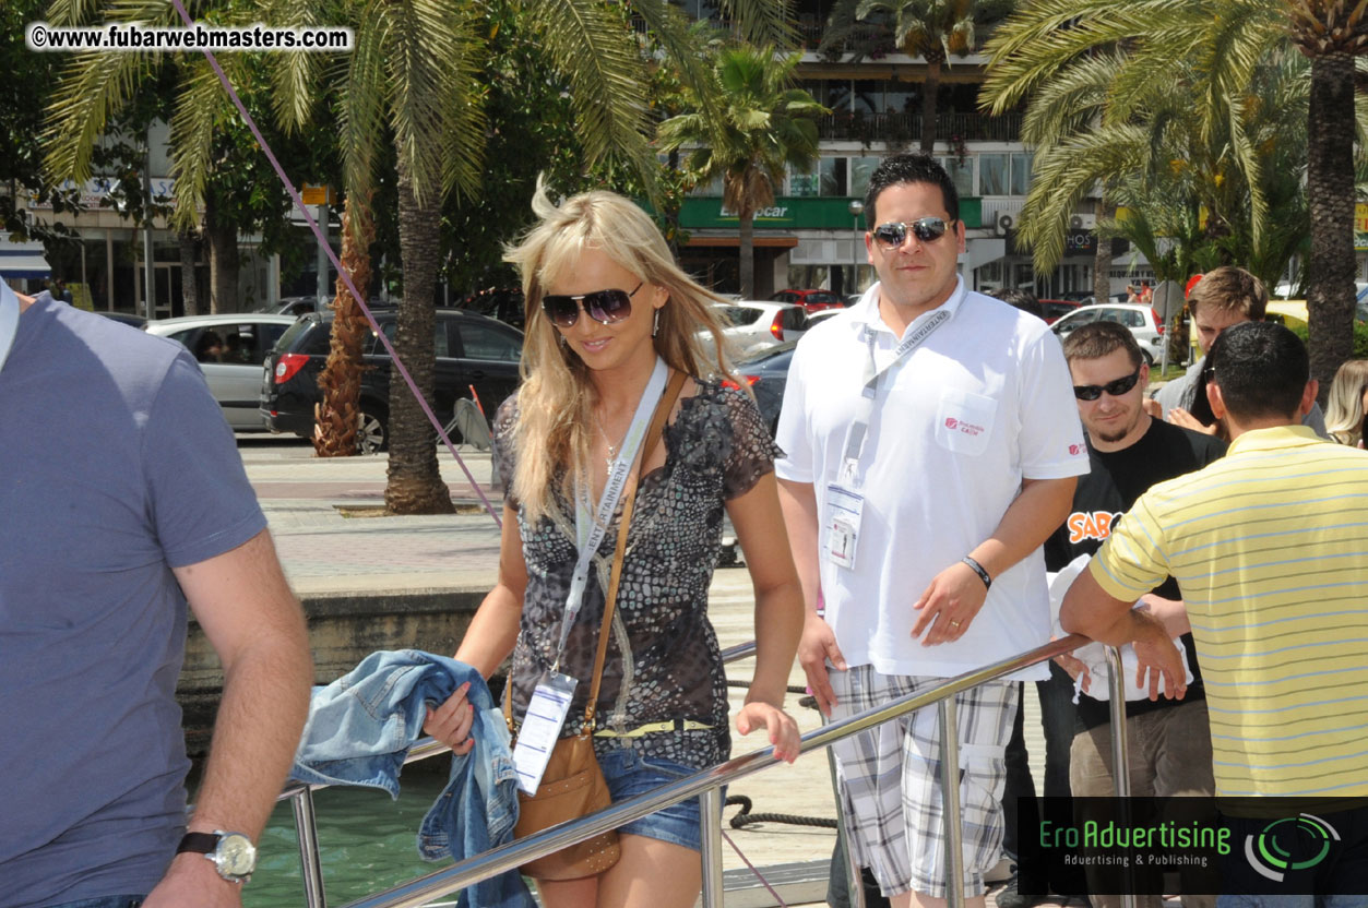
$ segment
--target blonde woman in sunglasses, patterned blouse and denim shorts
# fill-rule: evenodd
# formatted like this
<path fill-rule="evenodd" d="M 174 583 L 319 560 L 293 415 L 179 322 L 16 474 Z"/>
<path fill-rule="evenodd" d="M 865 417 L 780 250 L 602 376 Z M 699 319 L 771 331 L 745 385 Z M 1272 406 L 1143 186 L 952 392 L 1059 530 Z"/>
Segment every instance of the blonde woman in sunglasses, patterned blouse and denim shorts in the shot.
<path fill-rule="evenodd" d="M 755 588 L 755 674 L 736 729 L 766 729 L 776 753 L 792 762 L 799 733 L 782 704 L 803 599 L 778 509 L 780 451 L 751 398 L 718 382 L 726 371 L 711 309 L 717 298 L 680 271 L 655 224 L 621 196 L 586 193 L 557 208 L 539 191 L 534 211 L 540 223 L 508 252 L 523 273 L 527 338 L 523 386 L 494 427 L 501 475 L 513 477 L 498 585 L 456 658 L 488 677 L 512 651 L 513 715 L 521 719 L 538 678 L 560 655 L 560 670 L 579 681 L 561 736 L 579 733 L 621 511 L 605 528 L 562 648 L 579 558 L 576 500 L 599 502 L 659 360 L 688 380 L 663 443 L 642 466 L 595 752 L 613 800 L 728 758 L 726 681 L 707 619 L 725 510 Z M 466 752 L 471 718 L 457 693 L 427 727 Z M 657 730 L 662 725 L 672 727 Z M 620 831 L 614 867 L 586 879 L 539 881 L 543 903 L 692 905 L 702 883 L 698 801 Z"/>

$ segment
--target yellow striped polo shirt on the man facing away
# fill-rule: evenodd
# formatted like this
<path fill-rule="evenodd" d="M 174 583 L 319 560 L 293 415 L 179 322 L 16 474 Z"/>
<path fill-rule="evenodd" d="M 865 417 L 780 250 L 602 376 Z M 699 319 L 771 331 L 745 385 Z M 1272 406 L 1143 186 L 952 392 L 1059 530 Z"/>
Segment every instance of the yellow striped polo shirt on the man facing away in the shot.
<path fill-rule="evenodd" d="M 1178 580 L 1216 794 L 1368 794 L 1368 453 L 1241 435 L 1142 495 L 1090 570 L 1127 602 Z"/>

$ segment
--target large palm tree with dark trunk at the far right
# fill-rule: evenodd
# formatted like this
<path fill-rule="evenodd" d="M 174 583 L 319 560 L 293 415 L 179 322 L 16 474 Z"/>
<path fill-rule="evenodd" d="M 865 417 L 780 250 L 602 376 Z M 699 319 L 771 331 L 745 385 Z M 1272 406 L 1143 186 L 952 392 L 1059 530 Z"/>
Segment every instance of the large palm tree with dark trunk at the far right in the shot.
<path fill-rule="evenodd" d="M 1356 130 L 1345 124 L 1354 118 L 1353 53 L 1365 46 L 1364 5 L 1338 0 L 1037 0 L 1012 15 L 989 42 L 992 64 L 982 97 L 985 107 L 1001 112 L 1025 100 L 1034 108 L 1041 97 L 1053 93 L 1057 98 L 1083 86 L 1104 92 L 1105 97 L 1094 100 L 1088 111 L 1056 111 L 1040 119 L 1034 131 L 1025 131 L 1037 141 L 1059 138 L 1060 153 L 1071 153 L 1075 164 L 1090 168 L 1093 179 L 1104 182 L 1104 175 L 1145 172 L 1146 165 L 1148 172 L 1157 172 L 1163 159 L 1145 157 L 1138 142 L 1160 138 L 1170 127 L 1168 118 L 1185 123 L 1182 131 L 1193 153 L 1176 157 L 1192 164 L 1197 176 L 1193 191 L 1207 209 L 1207 238 L 1233 249 L 1233 243 L 1238 245 L 1233 227 L 1238 220 L 1233 217 L 1246 209 L 1249 242 L 1256 249 L 1271 249 L 1278 243 L 1264 237 L 1276 220 L 1270 216 L 1268 142 L 1287 137 L 1256 133 L 1257 123 L 1275 118 L 1261 109 L 1268 101 L 1254 97 L 1252 88 L 1261 70 L 1290 66 L 1293 46 L 1308 55 L 1309 71 L 1298 77 L 1306 82 L 1308 100 L 1301 109 L 1306 111 L 1308 126 L 1294 134 L 1309 135 L 1306 196 L 1312 246 L 1320 250 L 1312 256 L 1311 354 L 1313 373 L 1324 386 L 1347 356 L 1352 336 L 1352 148 L 1357 137 L 1363 153 L 1368 131 L 1363 118 Z M 1320 68 L 1319 57 L 1324 57 Z M 1112 68 L 1108 82 L 1099 82 L 1096 72 L 1089 79 L 1086 67 L 1104 66 Z M 1150 109 L 1156 93 L 1175 85 L 1185 89 L 1174 104 Z M 1089 126 L 1090 134 L 1085 129 Z M 1115 144 L 1107 142 L 1115 133 L 1131 133 L 1130 155 L 1115 153 Z M 1179 145 L 1172 142 L 1170 149 L 1181 150 Z M 1090 157 L 1109 152 L 1115 155 L 1107 163 Z M 1059 174 L 1056 168 L 1048 176 Z M 1036 181 L 1042 176 L 1037 156 Z M 1088 189 L 1073 181 L 1068 193 L 1071 209 Z M 1063 204 L 1059 200 L 1053 213 Z M 1048 260 L 1060 242 L 1049 232 L 1040 224 L 1034 237 L 1042 243 L 1038 261 Z"/>

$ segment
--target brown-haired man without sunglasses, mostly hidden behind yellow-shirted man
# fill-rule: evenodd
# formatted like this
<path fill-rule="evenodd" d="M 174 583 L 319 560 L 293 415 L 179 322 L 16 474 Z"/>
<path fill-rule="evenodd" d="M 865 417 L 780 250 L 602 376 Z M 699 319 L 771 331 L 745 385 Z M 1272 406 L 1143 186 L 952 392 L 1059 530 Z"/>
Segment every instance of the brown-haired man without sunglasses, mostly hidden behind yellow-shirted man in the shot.
<path fill-rule="evenodd" d="M 1187 299 L 1202 357 L 1182 377 L 1155 391 L 1155 405 L 1145 408 L 1149 414 L 1185 429 L 1215 433 L 1216 417 L 1207 403 L 1207 350 L 1226 328 L 1245 321 L 1263 321 L 1267 308 L 1268 291 L 1263 282 L 1244 268 L 1224 265 L 1204 275 L 1193 286 Z M 1312 403 L 1311 413 L 1301 423 L 1316 435 L 1330 438 L 1326 433 L 1326 414 L 1319 403 Z"/>

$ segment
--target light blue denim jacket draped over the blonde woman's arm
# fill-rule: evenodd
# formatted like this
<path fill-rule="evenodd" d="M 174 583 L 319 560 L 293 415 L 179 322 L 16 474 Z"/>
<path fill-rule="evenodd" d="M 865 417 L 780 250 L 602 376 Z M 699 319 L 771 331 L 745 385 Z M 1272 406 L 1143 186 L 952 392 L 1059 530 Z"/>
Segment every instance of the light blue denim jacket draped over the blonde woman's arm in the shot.
<path fill-rule="evenodd" d="M 372 652 L 347 674 L 313 689 L 304 738 L 290 777 L 315 785 L 365 785 L 398 797 L 404 758 L 423 736 L 425 706 L 443 703 L 471 682 L 475 748 L 451 756 L 451 775 L 423 818 L 419 853 L 464 860 L 513 840 L 517 771 L 509 732 L 480 673 L 456 659 L 419 650 Z M 531 908 L 517 871 L 461 893 L 458 908 Z"/>

